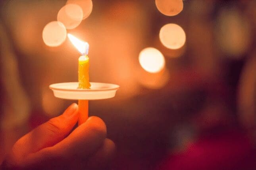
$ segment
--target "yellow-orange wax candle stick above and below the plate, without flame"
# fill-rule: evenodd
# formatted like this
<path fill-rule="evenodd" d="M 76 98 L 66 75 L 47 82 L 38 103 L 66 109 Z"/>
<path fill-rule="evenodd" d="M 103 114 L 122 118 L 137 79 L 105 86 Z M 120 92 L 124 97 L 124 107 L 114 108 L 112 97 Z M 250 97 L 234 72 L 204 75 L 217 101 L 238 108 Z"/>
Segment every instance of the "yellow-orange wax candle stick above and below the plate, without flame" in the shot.
<path fill-rule="evenodd" d="M 79 89 L 90 89 L 89 83 L 89 57 L 82 55 L 78 59 L 78 88 Z M 79 100 L 78 101 L 78 111 L 79 119 L 78 125 L 84 123 L 88 118 L 89 101 Z"/>

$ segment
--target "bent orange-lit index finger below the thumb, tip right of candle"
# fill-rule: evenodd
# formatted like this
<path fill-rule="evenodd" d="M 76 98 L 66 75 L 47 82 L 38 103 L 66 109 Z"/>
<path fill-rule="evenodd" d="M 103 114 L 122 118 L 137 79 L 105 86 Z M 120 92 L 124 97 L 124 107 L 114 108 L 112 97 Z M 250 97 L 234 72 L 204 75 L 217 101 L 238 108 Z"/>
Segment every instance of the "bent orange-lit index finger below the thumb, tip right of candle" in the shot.
<path fill-rule="evenodd" d="M 46 167 L 57 165 L 67 167 L 75 162 L 73 166 L 81 168 L 84 167 L 81 162 L 85 163 L 88 156 L 100 148 L 105 138 L 106 125 L 104 121 L 99 117 L 92 116 L 58 144 L 29 154 L 19 164 L 23 167 L 31 167 L 40 162 Z"/>

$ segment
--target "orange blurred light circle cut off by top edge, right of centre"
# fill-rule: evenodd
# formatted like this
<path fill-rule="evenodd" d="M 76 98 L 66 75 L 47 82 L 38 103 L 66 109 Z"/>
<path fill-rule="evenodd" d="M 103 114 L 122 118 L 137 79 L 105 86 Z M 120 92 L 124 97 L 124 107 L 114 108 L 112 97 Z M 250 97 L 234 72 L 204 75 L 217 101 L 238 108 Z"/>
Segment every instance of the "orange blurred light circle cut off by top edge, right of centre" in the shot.
<path fill-rule="evenodd" d="M 174 16 L 183 9 L 182 0 L 156 0 L 156 8 L 164 15 Z"/>

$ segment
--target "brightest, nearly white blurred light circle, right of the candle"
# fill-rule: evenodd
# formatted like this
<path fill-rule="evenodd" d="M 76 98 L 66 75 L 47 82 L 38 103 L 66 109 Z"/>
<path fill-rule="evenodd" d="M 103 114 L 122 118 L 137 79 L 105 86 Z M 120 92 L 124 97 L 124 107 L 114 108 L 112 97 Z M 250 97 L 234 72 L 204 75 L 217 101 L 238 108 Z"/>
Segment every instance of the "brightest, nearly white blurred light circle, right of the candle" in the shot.
<path fill-rule="evenodd" d="M 158 49 L 148 47 L 139 54 L 139 62 L 144 70 L 150 73 L 160 72 L 165 66 L 164 56 Z"/>

